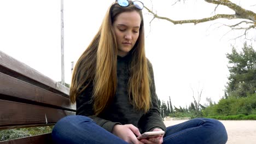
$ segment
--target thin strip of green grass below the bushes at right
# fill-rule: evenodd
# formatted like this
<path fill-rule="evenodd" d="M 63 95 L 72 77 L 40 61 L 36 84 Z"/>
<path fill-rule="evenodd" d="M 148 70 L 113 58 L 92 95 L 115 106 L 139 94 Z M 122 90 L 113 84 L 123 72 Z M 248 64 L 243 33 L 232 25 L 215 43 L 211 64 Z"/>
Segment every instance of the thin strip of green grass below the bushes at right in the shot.
<path fill-rule="evenodd" d="M 230 115 L 230 116 L 208 116 L 207 118 L 214 118 L 219 120 L 256 120 L 256 115 Z"/>

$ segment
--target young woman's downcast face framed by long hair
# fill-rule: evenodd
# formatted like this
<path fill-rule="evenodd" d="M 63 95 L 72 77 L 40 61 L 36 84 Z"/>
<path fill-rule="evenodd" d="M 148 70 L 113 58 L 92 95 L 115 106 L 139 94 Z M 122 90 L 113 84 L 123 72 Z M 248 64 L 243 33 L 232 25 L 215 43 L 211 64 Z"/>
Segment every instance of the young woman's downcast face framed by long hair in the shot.
<path fill-rule="evenodd" d="M 135 45 L 139 36 L 141 16 L 137 11 L 124 12 L 113 23 L 118 44 L 118 56 L 126 56 Z"/>

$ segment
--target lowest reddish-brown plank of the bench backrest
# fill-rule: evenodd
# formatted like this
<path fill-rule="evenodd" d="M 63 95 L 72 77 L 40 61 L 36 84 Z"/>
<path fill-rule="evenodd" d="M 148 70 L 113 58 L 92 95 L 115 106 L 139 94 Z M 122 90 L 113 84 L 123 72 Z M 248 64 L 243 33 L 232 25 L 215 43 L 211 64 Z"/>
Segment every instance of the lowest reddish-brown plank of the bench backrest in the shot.
<path fill-rule="evenodd" d="M 0 100 L 0 127 L 56 123 L 75 112 Z"/>

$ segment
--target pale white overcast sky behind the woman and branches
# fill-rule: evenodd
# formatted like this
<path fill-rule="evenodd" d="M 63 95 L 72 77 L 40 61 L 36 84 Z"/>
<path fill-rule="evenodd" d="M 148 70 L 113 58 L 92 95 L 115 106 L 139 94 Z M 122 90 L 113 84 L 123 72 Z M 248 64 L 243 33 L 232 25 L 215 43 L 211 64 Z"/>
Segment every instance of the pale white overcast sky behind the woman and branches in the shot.
<path fill-rule="evenodd" d="M 71 81 L 71 62 L 76 62 L 89 45 L 113 2 L 64 0 L 65 82 Z M 152 8 L 149 0 L 142 2 Z M 212 16 L 216 7 L 201 0 L 173 6 L 175 1 L 152 2 L 158 15 L 174 20 Z M 253 0 L 232 2 L 256 12 Z M 60 4 L 60 0 L 0 1 L 0 50 L 55 81 L 61 81 Z M 193 101 L 191 88 L 195 96 L 203 89 L 202 104 L 206 97 L 216 102 L 223 97 L 229 75 L 225 54 L 231 51 L 231 44 L 239 49 L 242 46 L 241 39 L 232 40 L 240 33 L 231 32 L 223 37 L 229 29 L 218 28 L 230 21 L 222 19 L 194 26 L 155 19 L 150 31 L 152 16 L 146 9 L 143 12 L 146 55 L 153 64 L 158 97 L 167 101 L 171 96 L 177 107 Z M 218 7 L 217 13 L 234 11 Z M 251 43 L 255 48 L 255 41 Z"/>

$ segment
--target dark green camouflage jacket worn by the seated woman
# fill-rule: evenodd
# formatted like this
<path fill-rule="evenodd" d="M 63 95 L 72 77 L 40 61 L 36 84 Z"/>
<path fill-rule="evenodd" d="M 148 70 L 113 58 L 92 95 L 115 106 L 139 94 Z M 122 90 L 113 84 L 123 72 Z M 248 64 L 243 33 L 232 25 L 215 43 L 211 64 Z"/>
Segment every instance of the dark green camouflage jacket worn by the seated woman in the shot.
<path fill-rule="evenodd" d="M 112 103 L 97 117 L 94 115 L 93 101 L 91 100 L 92 83 L 77 98 L 77 115 L 90 117 L 102 128 L 112 133 L 115 124 L 133 124 L 141 133 L 153 130 L 158 127 L 166 131 L 164 122 L 160 116 L 157 103 L 157 95 L 155 93 L 155 83 L 152 64 L 148 61 L 150 76 L 153 85 L 150 87 L 150 95 L 152 97 L 152 106 L 147 113 L 133 109 L 133 105 L 129 101 L 127 92 L 127 82 L 129 80 L 129 62 L 131 55 L 125 57 L 118 56 L 117 62 L 117 92 Z"/>

